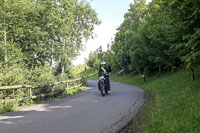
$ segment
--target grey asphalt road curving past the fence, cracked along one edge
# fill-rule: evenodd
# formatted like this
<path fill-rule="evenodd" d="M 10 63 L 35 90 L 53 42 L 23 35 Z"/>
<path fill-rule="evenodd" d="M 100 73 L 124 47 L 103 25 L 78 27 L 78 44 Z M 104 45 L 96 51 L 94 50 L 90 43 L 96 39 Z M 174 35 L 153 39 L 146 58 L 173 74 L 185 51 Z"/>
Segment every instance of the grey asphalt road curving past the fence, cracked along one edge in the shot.
<path fill-rule="evenodd" d="M 142 89 L 111 83 L 102 97 L 97 81 L 87 90 L 53 102 L 0 115 L 0 133 L 116 133 L 139 111 Z"/>

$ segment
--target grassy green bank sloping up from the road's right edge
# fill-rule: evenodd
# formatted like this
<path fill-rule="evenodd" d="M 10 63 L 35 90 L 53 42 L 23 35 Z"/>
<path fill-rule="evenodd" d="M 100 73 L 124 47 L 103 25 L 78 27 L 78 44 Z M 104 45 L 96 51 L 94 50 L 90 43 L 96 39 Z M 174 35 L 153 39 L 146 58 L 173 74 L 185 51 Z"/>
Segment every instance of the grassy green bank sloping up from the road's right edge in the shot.
<path fill-rule="evenodd" d="M 200 69 L 195 81 L 191 80 L 190 70 L 147 78 L 145 83 L 132 75 L 111 75 L 110 78 L 145 90 L 146 102 L 142 110 L 122 132 L 200 132 Z"/>

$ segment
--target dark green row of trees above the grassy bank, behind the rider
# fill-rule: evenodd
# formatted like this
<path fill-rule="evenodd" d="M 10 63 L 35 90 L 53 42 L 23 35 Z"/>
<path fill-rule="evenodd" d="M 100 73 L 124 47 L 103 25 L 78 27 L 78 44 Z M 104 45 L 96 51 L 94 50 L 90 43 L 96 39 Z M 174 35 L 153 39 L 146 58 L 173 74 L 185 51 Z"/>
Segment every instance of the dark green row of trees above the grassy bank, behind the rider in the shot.
<path fill-rule="evenodd" d="M 161 74 L 189 68 L 195 78 L 200 63 L 199 0 L 134 0 L 111 47 L 90 53 L 87 64 L 106 60 L 114 71 Z"/>

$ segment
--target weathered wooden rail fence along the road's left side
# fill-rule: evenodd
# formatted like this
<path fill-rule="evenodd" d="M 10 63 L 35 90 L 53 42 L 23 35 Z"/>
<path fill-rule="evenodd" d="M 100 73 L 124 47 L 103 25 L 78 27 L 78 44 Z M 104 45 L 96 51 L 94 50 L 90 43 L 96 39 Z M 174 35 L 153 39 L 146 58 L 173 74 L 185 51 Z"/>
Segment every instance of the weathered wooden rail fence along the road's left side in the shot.
<path fill-rule="evenodd" d="M 80 86 L 83 85 L 83 83 L 85 82 L 84 80 L 86 80 L 85 78 L 78 78 L 78 79 L 73 79 L 73 80 L 66 80 L 66 81 L 61 81 L 61 82 L 55 82 L 55 83 L 52 83 L 52 84 L 46 84 L 46 85 L 15 85 L 15 86 L 2 86 L 0 87 L 0 91 L 3 91 L 3 90 L 17 90 L 17 89 L 22 89 L 22 88 L 25 88 L 25 89 L 29 89 L 29 96 L 31 98 L 31 101 L 33 99 L 36 99 L 38 97 L 46 97 L 46 96 L 55 96 L 55 95 L 58 95 L 60 93 L 62 93 L 63 91 L 68 91 L 70 89 L 73 89 L 73 88 L 78 88 Z M 76 82 L 78 82 L 78 84 L 76 84 Z M 69 84 L 72 83 L 73 86 L 69 86 Z M 63 90 L 54 90 L 54 87 L 57 86 L 57 85 L 61 85 L 61 84 L 64 84 L 66 87 L 65 89 Z M 49 93 L 45 93 L 45 94 L 39 94 L 39 95 L 33 95 L 32 91 L 33 90 L 36 90 L 36 89 L 41 89 L 41 88 L 45 88 L 45 87 L 50 87 L 51 88 L 51 92 Z M 18 98 L 18 100 L 24 100 L 25 98 Z M 6 102 L 6 100 L 4 99 L 0 99 L 1 100 L 1 103 L 4 103 Z M 14 101 L 15 98 L 13 99 L 9 99 L 9 102 L 12 102 Z"/>

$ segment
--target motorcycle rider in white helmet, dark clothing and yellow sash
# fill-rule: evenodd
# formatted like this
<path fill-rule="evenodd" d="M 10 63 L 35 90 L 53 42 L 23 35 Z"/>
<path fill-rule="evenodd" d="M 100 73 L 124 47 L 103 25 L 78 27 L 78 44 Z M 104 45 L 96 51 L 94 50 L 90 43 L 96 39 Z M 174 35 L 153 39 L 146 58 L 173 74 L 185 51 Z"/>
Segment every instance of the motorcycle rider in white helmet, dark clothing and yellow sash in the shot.
<path fill-rule="evenodd" d="M 100 73 L 104 72 L 105 75 L 105 81 L 106 81 L 106 84 L 108 85 L 108 90 L 110 91 L 110 80 L 109 80 L 109 73 L 111 73 L 111 66 L 109 65 L 108 67 L 106 66 L 106 62 L 105 61 L 102 61 L 101 62 L 101 67 L 99 69 L 99 72 L 98 72 L 98 76 L 100 76 Z M 99 87 L 99 82 L 98 82 L 98 87 Z"/>

